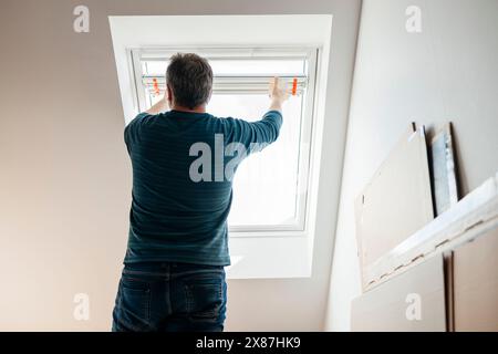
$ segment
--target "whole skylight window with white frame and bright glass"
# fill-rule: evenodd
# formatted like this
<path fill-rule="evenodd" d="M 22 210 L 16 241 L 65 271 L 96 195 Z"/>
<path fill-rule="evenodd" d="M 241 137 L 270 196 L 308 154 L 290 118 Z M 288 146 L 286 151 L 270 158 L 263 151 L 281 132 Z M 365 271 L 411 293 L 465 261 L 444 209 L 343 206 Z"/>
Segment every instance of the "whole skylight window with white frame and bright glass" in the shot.
<path fill-rule="evenodd" d="M 260 231 L 302 231 L 312 126 L 315 49 L 137 49 L 129 51 L 136 100 L 145 111 L 164 95 L 165 73 L 176 52 L 207 58 L 214 71 L 208 113 L 258 121 L 269 106 L 273 76 L 293 92 L 283 107 L 279 139 L 248 157 L 234 179 L 228 219 L 231 235 Z"/>

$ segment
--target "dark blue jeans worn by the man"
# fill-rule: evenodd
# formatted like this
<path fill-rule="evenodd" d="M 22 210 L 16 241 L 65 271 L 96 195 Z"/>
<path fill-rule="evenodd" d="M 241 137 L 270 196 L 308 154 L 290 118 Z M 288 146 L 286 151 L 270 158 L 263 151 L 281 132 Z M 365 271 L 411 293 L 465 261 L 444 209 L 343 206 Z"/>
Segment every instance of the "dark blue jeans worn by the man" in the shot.
<path fill-rule="evenodd" d="M 120 281 L 112 330 L 221 332 L 226 304 L 222 266 L 129 263 Z"/>

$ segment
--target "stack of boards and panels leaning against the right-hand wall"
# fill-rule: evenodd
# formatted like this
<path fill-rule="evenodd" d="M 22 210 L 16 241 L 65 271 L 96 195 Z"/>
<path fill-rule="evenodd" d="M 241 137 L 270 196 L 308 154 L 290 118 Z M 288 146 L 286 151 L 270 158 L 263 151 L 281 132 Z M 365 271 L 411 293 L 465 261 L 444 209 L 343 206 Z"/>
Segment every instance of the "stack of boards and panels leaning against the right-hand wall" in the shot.
<path fill-rule="evenodd" d="M 452 144 L 412 125 L 356 199 L 353 331 L 498 331 L 498 175 L 457 202 Z"/>

